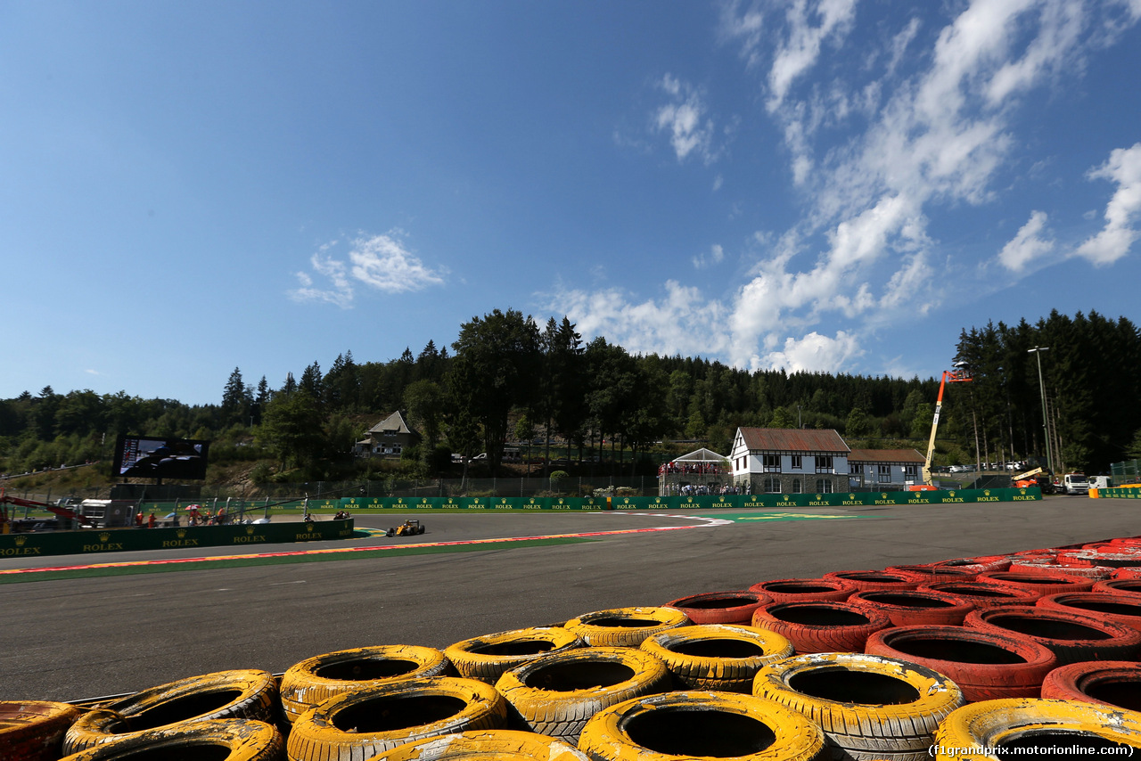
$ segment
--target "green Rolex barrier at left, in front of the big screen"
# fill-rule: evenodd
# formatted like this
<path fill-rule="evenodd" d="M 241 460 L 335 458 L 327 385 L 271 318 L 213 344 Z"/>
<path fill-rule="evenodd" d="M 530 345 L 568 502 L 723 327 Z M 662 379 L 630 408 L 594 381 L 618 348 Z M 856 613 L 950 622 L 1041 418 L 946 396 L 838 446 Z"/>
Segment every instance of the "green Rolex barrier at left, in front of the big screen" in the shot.
<path fill-rule="evenodd" d="M 0 558 L 98 554 L 186 547 L 250 547 L 348 539 L 353 519 L 186 528 L 104 528 L 0 535 Z"/>

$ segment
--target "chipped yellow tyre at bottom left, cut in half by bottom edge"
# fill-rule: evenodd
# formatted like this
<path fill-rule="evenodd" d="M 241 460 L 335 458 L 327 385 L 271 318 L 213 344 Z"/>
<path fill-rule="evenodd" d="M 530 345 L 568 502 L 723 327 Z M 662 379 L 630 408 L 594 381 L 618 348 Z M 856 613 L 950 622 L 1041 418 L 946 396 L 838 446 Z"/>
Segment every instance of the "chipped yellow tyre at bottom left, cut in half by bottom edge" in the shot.
<path fill-rule="evenodd" d="M 222 719 L 187 721 L 168 729 L 152 729 L 102 743 L 66 756 L 66 761 L 122 761 L 143 759 L 225 759 L 280 761 L 285 743 L 262 721 Z M 225 755 L 222 755 L 225 753 Z"/>

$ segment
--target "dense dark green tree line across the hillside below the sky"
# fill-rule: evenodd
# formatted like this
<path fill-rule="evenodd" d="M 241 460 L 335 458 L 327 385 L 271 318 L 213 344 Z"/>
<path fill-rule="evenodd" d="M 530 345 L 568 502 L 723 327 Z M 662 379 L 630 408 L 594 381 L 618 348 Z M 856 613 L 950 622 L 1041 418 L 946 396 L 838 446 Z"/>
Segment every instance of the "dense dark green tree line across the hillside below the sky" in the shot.
<path fill-rule="evenodd" d="M 1043 427 L 1037 359 L 1047 392 Z M 266 458 L 270 470 L 319 477 L 351 467 L 355 440 L 394 410 L 423 436 L 408 467 L 438 472 L 453 452 L 487 453 L 494 470 L 511 440 L 559 442 L 560 456 L 607 454 L 620 468 L 662 439 L 728 453 L 738 426 L 834 428 L 856 445 L 912 439 L 923 451 L 939 379 L 745 371 L 699 357 L 631 355 L 605 338 L 583 342 L 566 317 L 545 325 L 513 309 L 474 317 L 447 348 L 357 363 L 351 351 L 274 388 L 235 367 L 217 405 L 120 391 L 0 400 L 0 469 L 22 472 L 110 455 L 119 434 L 213 439 L 212 456 Z M 1053 313 L 963 330 L 956 359 L 972 373 L 945 396 L 939 438 L 953 459 L 1027 459 L 1055 444 L 1055 464 L 1100 471 L 1138 448 L 1141 339 L 1127 319 Z M 956 450 L 957 447 L 957 450 Z M 609 452 L 607 452 L 609 450 Z M 977 458 L 976 458 L 977 452 Z M 552 455 L 555 456 L 555 455 Z M 626 458 L 629 456 L 629 460 Z"/>

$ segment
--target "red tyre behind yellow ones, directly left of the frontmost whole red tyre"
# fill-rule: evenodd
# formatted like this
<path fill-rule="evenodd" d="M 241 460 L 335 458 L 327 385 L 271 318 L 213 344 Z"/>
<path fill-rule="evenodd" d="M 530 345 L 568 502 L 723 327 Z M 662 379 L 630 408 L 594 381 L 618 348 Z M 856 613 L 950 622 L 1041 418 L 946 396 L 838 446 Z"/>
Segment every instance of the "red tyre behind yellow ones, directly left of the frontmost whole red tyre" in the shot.
<path fill-rule="evenodd" d="M 779 602 L 756 609 L 753 625 L 774 631 L 796 653 L 863 653 L 872 633 L 891 626 L 888 614 L 849 602 Z"/>

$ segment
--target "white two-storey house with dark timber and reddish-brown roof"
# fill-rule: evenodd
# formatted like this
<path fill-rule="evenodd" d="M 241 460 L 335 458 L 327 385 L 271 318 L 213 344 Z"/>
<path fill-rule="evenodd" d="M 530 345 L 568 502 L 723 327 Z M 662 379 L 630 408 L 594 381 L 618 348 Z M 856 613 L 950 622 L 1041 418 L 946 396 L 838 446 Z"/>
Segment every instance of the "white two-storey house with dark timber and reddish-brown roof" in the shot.
<path fill-rule="evenodd" d="M 738 428 L 733 483 L 747 494 L 847 492 L 849 452 L 834 430 Z"/>

